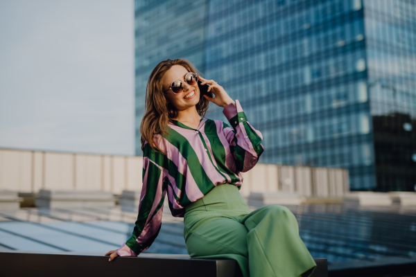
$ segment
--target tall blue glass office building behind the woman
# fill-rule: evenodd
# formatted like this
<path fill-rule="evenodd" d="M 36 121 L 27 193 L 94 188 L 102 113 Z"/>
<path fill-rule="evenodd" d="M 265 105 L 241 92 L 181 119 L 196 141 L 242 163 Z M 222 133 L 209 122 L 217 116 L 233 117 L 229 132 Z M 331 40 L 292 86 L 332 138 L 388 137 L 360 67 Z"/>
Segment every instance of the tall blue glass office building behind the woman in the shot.
<path fill-rule="evenodd" d="M 135 1 L 136 150 L 150 71 L 185 57 L 239 99 L 259 162 L 416 185 L 416 6 L 406 0 Z M 208 118 L 226 120 L 211 105 Z"/>

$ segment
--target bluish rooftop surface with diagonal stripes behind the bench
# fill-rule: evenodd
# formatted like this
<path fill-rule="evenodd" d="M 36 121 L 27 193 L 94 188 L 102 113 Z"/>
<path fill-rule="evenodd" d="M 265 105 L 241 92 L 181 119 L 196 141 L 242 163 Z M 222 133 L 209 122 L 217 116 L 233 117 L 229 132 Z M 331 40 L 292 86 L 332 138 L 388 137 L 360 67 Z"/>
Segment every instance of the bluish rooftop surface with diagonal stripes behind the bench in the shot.
<path fill-rule="evenodd" d="M 329 271 L 416 263 L 416 206 L 287 206 L 297 217 L 306 247 L 314 258 L 328 259 Z M 120 206 L 0 211 L 0 250 L 104 255 L 130 237 L 136 219 L 137 213 L 122 211 Z M 172 217 L 165 206 L 162 229 L 145 253 L 187 254 L 183 218 Z"/>

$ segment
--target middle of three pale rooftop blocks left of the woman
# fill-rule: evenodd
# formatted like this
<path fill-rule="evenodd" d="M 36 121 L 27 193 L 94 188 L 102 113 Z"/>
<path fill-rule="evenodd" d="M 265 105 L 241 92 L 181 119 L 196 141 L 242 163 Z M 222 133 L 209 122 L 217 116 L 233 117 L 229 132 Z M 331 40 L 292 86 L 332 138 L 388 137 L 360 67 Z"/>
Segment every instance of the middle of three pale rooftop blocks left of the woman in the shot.
<path fill-rule="evenodd" d="M 115 206 L 114 195 L 103 190 L 43 190 L 39 191 L 36 206 L 41 208 L 83 208 Z"/>

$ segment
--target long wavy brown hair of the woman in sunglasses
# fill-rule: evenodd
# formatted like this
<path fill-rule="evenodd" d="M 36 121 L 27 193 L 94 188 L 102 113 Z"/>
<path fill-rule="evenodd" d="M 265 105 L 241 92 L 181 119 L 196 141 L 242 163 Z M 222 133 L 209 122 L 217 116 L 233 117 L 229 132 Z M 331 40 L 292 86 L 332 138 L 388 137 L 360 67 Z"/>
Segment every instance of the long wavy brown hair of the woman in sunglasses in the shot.
<path fill-rule="evenodd" d="M 144 150 L 144 141 L 147 141 L 153 150 L 163 152 L 155 143 L 154 136 L 160 134 L 166 137 L 168 135 L 169 120 L 177 116 L 177 109 L 165 98 L 162 84 L 164 74 L 175 64 L 182 65 L 187 71 L 200 75 L 198 69 L 189 60 L 182 58 L 164 60 L 155 66 L 152 73 L 150 73 L 146 86 L 145 111 L 140 124 L 142 151 Z M 200 93 L 200 100 L 196 105 L 196 110 L 202 118 L 205 117 L 208 106 L 209 100 Z"/>

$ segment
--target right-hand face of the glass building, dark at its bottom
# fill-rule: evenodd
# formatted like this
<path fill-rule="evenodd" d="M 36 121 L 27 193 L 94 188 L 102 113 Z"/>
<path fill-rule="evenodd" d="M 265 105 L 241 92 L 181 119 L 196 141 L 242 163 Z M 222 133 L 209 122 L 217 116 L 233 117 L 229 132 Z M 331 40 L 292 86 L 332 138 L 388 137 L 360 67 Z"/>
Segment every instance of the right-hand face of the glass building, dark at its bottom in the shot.
<path fill-rule="evenodd" d="M 377 187 L 416 190 L 416 2 L 364 8 Z"/>

